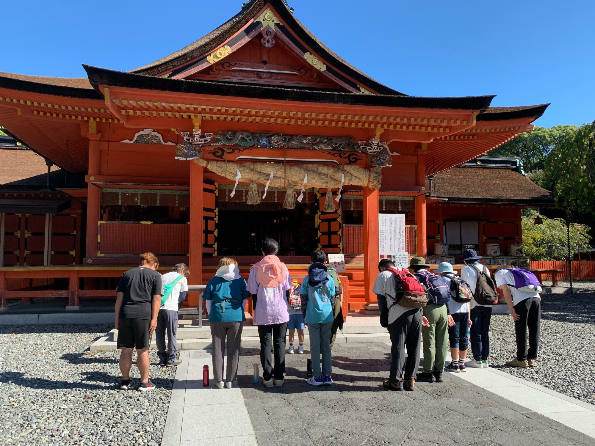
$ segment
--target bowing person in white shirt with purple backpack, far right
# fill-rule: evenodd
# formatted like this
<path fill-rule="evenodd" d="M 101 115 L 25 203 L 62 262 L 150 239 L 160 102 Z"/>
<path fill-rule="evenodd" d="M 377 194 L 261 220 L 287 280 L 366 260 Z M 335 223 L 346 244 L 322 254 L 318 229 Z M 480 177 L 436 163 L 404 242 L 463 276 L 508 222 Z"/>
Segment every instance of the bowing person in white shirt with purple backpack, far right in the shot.
<path fill-rule="evenodd" d="M 507 366 L 535 367 L 539 347 L 539 327 L 541 321 L 541 297 L 537 291 L 521 291 L 514 286 L 515 278 L 507 268 L 494 274 L 496 285 L 502 290 L 504 299 L 515 321 L 516 358 L 507 361 Z M 529 347 L 527 348 L 527 331 Z"/>

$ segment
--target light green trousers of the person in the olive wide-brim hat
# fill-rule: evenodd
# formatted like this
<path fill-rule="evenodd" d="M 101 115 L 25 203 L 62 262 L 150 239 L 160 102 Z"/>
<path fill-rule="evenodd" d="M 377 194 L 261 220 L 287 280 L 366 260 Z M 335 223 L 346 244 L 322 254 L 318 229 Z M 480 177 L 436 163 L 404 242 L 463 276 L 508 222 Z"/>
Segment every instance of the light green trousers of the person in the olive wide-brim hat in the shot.
<path fill-rule="evenodd" d="M 448 315 L 446 305 L 428 304 L 424 316 L 430 326 L 421 327 L 424 338 L 424 372 L 443 372 L 448 350 Z"/>

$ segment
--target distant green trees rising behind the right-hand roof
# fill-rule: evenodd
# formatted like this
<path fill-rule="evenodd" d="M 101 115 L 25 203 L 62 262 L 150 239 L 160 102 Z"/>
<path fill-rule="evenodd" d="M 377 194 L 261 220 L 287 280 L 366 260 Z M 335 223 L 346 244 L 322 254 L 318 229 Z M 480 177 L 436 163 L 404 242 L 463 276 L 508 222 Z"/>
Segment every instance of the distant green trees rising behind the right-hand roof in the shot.
<path fill-rule="evenodd" d="M 568 137 L 573 137 L 577 130 L 577 125 L 536 127 L 533 131 L 519 134 L 508 143 L 492 150 L 488 155 L 521 158 L 526 172 L 543 170 L 547 156 L 558 149 Z"/>

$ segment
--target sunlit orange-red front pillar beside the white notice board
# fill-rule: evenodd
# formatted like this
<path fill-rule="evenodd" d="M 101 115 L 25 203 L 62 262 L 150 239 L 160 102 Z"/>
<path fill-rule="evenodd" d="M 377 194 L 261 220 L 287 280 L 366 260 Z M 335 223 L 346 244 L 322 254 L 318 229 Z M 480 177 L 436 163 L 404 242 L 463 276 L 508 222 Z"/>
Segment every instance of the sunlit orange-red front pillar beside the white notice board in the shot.
<path fill-rule="evenodd" d="M 362 313 L 378 311 L 372 287 L 378 275 L 380 244 L 378 241 L 378 189 L 364 187 L 364 296 Z"/>

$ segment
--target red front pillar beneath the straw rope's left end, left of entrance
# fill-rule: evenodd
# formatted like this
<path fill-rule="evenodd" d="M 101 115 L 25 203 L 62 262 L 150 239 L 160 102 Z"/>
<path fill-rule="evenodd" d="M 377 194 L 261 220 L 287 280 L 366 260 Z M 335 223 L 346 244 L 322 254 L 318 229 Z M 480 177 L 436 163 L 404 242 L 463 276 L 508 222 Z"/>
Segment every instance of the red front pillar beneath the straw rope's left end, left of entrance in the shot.
<path fill-rule="evenodd" d="M 189 265 L 190 285 L 202 285 L 202 245 L 203 245 L 203 183 L 204 168 L 190 162 L 190 244 Z M 188 305 L 198 306 L 199 293 L 189 293 Z"/>

